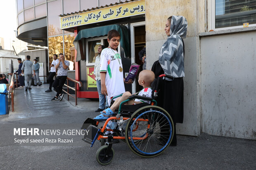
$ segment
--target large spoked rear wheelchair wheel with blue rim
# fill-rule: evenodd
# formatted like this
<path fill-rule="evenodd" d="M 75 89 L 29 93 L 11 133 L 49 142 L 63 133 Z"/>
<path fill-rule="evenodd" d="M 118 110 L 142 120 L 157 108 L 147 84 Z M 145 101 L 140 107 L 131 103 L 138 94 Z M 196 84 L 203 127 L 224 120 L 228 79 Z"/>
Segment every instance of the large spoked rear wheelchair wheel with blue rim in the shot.
<path fill-rule="evenodd" d="M 173 120 L 161 107 L 145 106 L 134 112 L 126 125 L 126 143 L 142 157 L 164 152 L 174 134 Z"/>

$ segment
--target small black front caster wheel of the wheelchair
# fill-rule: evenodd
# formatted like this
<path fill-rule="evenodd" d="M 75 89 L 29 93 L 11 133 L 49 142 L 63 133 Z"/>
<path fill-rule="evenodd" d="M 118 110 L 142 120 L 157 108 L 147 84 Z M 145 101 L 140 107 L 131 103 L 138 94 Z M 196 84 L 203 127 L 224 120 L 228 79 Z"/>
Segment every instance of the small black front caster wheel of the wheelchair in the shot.
<path fill-rule="evenodd" d="M 109 154 L 106 154 L 107 147 L 108 147 L 107 145 L 101 146 L 96 152 L 97 162 L 100 163 L 101 165 L 109 164 L 114 158 L 114 154 L 115 154 L 114 149 L 111 148 L 111 150 L 109 151 Z"/>

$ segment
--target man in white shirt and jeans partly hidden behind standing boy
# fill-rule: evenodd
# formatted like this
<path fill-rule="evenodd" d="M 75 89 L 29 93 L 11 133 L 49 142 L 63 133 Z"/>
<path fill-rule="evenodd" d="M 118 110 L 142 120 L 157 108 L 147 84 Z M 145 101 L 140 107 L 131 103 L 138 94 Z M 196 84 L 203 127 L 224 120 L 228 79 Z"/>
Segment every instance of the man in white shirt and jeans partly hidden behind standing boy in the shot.
<path fill-rule="evenodd" d="M 97 110 L 95 110 L 95 112 L 101 112 L 105 109 L 105 107 L 108 107 L 108 102 L 106 100 L 105 95 L 103 95 L 101 93 L 101 82 L 100 82 L 100 54 L 102 49 L 104 49 L 105 46 L 104 45 L 100 45 L 98 47 L 98 56 L 95 58 L 95 66 L 94 66 L 94 75 L 95 75 L 95 79 L 96 79 L 96 83 L 97 83 L 97 90 L 99 93 L 99 100 L 100 100 L 100 104 L 99 104 L 99 108 Z"/>

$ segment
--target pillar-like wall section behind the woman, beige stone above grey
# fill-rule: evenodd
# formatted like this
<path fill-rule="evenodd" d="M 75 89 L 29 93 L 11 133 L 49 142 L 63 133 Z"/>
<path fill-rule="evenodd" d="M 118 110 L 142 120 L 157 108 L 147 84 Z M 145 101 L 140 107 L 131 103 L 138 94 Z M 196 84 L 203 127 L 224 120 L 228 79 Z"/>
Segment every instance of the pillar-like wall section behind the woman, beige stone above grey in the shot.
<path fill-rule="evenodd" d="M 177 134 L 200 134 L 200 50 L 199 32 L 204 32 L 204 0 L 146 0 L 147 69 L 159 58 L 167 39 L 166 20 L 172 15 L 185 16 L 188 22 L 185 43 L 184 121 L 177 123 Z M 154 5 L 152 5 L 154 4 Z M 203 21 L 203 22 L 202 22 Z"/>

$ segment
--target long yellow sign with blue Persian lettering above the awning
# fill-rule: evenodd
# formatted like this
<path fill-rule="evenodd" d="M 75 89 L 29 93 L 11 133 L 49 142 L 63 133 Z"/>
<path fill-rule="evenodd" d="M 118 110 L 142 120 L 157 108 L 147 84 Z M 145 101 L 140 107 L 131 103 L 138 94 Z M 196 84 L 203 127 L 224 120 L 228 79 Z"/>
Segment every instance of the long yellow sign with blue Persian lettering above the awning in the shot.
<path fill-rule="evenodd" d="M 145 0 L 128 2 L 111 7 L 60 17 L 60 28 L 71 28 L 128 16 L 145 14 Z"/>

